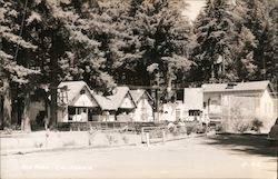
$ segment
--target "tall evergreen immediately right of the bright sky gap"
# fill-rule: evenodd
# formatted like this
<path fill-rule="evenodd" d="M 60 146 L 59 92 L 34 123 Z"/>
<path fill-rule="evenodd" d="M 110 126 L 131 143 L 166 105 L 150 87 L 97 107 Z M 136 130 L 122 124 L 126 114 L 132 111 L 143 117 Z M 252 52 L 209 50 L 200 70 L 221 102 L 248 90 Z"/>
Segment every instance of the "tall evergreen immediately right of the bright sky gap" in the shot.
<path fill-rule="evenodd" d="M 192 57 L 200 81 L 236 80 L 234 42 L 237 24 L 231 4 L 226 0 L 207 0 L 195 23 L 197 46 Z"/>

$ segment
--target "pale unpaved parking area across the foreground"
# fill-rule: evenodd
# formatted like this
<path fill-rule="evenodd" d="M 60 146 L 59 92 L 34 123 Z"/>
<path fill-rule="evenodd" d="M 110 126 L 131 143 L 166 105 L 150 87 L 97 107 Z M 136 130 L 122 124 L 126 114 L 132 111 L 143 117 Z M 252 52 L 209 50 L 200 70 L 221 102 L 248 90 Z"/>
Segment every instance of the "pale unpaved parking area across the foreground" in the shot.
<path fill-rule="evenodd" d="M 1 156 L 1 178 L 277 178 L 277 158 L 216 138 Z M 244 146 L 241 146 L 244 148 Z"/>

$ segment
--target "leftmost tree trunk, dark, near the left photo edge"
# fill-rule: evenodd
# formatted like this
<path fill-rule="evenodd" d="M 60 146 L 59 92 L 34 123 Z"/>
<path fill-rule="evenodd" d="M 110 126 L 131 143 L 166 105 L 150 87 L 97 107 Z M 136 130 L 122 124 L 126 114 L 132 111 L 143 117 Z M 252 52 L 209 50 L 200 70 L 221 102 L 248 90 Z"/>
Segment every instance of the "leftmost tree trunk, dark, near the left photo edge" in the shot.
<path fill-rule="evenodd" d="M 11 92 L 7 78 L 3 79 L 3 128 L 11 128 Z"/>

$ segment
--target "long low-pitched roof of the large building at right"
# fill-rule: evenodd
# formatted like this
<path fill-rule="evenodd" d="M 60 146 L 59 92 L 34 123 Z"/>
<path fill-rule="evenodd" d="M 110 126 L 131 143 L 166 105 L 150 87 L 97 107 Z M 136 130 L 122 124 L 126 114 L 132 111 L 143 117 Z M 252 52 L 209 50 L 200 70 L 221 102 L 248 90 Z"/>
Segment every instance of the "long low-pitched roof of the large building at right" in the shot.
<path fill-rule="evenodd" d="M 251 81 L 238 83 L 206 83 L 203 92 L 231 92 L 231 91 L 262 91 L 269 87 L 269 81 Z"/>

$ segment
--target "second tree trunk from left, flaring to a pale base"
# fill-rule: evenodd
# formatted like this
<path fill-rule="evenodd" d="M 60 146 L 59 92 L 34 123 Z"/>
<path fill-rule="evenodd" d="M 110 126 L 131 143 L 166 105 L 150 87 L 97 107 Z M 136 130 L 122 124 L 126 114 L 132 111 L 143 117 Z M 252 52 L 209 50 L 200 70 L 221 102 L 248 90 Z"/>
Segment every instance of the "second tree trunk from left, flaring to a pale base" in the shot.
<path fill-rule="evenodd" d="M 22 117 L 23 119 L 21 123 L 21 130 L 23 130 L 24 132 L 31 131 L 30 105 L 31 105 L 30 92 L 27 92 L 24 98 L 24 110 Z"/>

